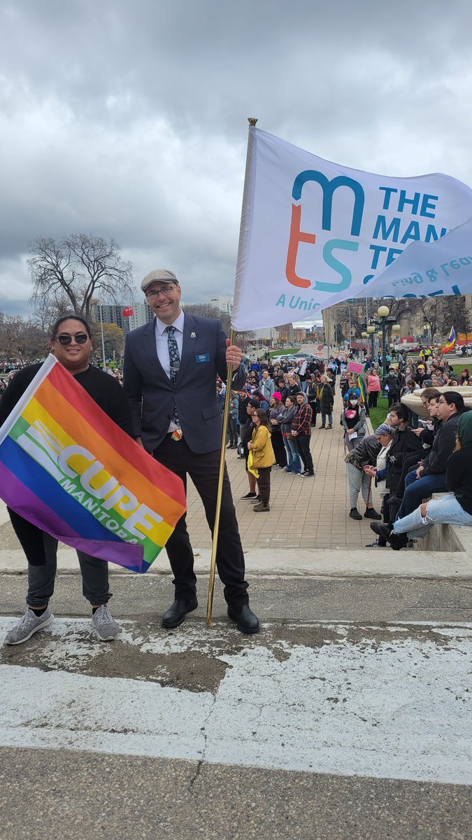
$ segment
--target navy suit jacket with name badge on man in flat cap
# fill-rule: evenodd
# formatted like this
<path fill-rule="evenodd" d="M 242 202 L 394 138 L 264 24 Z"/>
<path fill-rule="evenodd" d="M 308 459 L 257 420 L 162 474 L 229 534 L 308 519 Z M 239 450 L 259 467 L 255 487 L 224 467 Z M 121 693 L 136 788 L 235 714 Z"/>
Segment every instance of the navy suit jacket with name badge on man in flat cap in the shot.
<path fill-rule="evenodd" d="M 167 433 L 176 403 L 181 430 L 192 452 L 220 449 L 222 416 L 217 399 L 217 374 L 226 381 L 226 339 L 216 318 L 185 315 L 181 365 L 176 384 L 160 365 L 155 347 L 155 319 L 128 333 L 124 349 L 123 387 L 133 417 L 134 436 L 152 452 Z M 232 388 L 244 386 L 241 366 Z"/>

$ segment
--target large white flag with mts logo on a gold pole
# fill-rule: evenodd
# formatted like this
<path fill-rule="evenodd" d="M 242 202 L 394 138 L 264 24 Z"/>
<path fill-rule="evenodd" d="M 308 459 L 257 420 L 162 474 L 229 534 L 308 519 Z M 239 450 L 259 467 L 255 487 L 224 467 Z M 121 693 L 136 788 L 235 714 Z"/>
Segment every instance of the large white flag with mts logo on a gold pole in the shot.
<path fill-rule="evenodd" d="M 357 171 L 251 127 L 233 328 L 319 318 L 349 297 L 472 291 L 472 270 L 470 280 L 465 274 L 470 255 L 456 253 L 459 244 L 446 236 L 471 217 L 472 190 L 455 178 Z M 462 260 L 467 287 L 459 269 L 450 269 L 449 286 L 445 275 L 441 283 L 427 274 L 440 245 L 443 262 Z M 412 265 L 422 282 L 407 279 Z"/>

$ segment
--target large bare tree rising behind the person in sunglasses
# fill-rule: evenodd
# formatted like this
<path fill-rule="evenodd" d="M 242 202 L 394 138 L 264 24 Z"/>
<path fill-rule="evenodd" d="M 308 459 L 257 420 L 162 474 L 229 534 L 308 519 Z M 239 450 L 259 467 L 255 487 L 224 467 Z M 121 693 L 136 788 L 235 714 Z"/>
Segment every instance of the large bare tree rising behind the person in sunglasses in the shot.
<path fill-rule="evenodd" d="M 36 309 L 58 312 L 67 302 L 76 315 L 89 318 L 92 297 L 118 303 L 133 296 L 132 265 L 122 259 L 114 239 L 108 243 L 92 234 L 72 234 L 56 242 L 39 237 L 29 244 L 29 253 L 30 302 Z"/>

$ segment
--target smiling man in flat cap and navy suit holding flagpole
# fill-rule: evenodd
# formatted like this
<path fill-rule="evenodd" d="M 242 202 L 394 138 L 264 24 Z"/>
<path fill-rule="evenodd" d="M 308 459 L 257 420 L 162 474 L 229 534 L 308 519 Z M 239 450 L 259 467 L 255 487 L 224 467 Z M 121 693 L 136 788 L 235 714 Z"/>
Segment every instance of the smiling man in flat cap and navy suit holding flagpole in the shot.
<path fill-rule="evenodd" d="M 149 271 L 141 283 L 155 319 L 128 333 L 124 350 L 123 386 L 131 405 L 134 435 L 161 464 L 186 475 L 197 487 L 207 522 L 216 512 L 222 417 L 217 374 L 226 380 L 227 365 L 235 370 L 232 389 L 244 386 L 242 352 L 230 346 L 221 321 L 186 315 L 181 286 L 167 269 Z M 178 627 L 197 604 L 193 552 L 181 517 L 166 544 L 174 573 L 176 600 L 162 618 L 164 627 Z M 218 575 L 224 585 L 228 616 L 243 633 L 257 633 L 259 620 L 249 609 L 244 580 L 244 554 L 233 497 L 225 470 L 221 507 Z"/>

